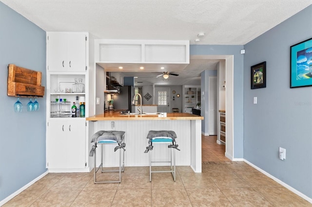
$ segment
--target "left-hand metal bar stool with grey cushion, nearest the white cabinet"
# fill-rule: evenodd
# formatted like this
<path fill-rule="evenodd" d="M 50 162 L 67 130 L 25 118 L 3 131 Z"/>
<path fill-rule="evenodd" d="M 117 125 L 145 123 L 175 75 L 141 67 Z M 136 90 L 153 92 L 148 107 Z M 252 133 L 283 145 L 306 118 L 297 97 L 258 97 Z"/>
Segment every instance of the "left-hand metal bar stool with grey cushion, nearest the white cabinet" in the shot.
<path fill-rule="evenodd" d="M 125 168 L 125 142 L 124 142 L 124 134 L 123 131 L 98 131 L 95 133 L 92 138 L 91 142 L 94 142 L 92 149 L 90 151 L 90 156 L 94 156 L 94 183 L 120 183 L 121 182 L 121 172 L 124 172 Z M 119 149 L 119 170 L 104 170 L 103 167 L 103 145 L 106 144 L 117 144 L 114 149 L 116 152 Z M 101 163 L 97 169 L 97 147 L 101 145 Z M 122 153 L 122 155 L 121 155 Z M 122 161 L 121 161 L 122 159 Z M 122 163 L 122 164 L 121 164 Z M 105 181 L 98 181 L 97 180 L 97 172 L 101 169 L 101 173 L 112 173 L 118 172 L 119 173 L 119 180 L 105 180 Z"/>

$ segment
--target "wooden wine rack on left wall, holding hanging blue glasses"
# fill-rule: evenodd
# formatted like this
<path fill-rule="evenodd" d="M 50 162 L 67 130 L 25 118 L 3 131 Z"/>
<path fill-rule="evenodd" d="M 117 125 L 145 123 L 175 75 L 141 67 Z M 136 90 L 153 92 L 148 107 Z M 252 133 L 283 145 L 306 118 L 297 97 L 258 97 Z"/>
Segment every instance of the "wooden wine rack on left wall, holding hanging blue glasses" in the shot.
<path fill-rule="evenodd" d="M 44 86 L 41 86 L 41 72 L 8 65 L 8 96 L 43 97 Z"/>

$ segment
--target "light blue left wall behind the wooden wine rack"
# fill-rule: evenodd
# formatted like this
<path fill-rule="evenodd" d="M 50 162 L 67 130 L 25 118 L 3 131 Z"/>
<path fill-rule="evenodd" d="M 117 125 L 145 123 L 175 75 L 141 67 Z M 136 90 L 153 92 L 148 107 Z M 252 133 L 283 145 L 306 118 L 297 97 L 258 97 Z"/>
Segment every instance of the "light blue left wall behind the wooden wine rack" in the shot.
<path fill-rule="evenodd" d="M 0 201 L 34 180 L 45 169 L 46 99 L 40 109 L 27 112 L 29 98 L 7 96 L 8 64 L 42 72 L 46 86 L 46 33 L 0 2 Z"/>

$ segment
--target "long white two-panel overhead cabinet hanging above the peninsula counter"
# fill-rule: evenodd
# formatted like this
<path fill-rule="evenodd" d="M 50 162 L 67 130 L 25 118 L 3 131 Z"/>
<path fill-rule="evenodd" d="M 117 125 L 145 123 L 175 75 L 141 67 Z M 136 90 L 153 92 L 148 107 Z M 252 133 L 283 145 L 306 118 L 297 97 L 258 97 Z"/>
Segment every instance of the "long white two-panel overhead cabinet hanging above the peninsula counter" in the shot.
<path fill-rule="evenodd" d="M 170 67 L 180 71 L 190 63 L 190 41 L 186 40 L 95 40 L 95 61 L 105 71 L 140 72 Z"/>

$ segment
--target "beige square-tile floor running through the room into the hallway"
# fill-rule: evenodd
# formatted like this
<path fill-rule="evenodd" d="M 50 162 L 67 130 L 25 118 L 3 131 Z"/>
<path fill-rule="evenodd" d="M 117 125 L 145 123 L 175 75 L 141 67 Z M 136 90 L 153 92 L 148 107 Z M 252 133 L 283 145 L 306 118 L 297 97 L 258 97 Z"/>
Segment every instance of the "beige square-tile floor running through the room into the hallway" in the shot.
<path fill-rule="evenodd" d="M 178 166 L 170 173 L 126 167 L 120 184 L 94 184 L 93 173 L 49 173 L 4 207 L 215 206 L 311 207 L 312 204 L 244 162 L 224 156 L 216 137 L 202 137 L 202 173 Z M 116 176 L 100 173 L 101 176 Z"/>

